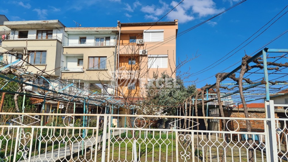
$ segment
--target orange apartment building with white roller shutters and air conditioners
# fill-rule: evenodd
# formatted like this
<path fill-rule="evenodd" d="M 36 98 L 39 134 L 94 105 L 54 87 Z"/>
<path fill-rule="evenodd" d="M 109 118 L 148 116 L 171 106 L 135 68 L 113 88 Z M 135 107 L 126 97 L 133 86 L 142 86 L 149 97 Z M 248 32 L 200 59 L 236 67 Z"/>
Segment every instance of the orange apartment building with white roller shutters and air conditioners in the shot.
<path fill-rule="evenodd" d="M 117 96 L 145 97 L 144 86 L 155 73 L 160 76 L 165 71 L 172 78 L 176 77 L 178 20 L 118 22 L 117 28 Z"/>

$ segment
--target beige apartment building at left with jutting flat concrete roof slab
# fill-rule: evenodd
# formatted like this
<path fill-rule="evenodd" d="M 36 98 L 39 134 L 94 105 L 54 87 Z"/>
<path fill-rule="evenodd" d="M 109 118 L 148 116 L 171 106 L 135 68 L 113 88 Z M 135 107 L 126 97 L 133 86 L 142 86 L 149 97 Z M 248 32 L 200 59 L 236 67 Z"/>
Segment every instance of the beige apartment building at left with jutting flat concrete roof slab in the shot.
<path fill-rule="evenodd" d="M 24 47 L 30 52 L 26 63 L 20 60 L 14 65 L 28 67 L 27 71 L 37 72 L 38 69 L 51 71 L 51 75 L 60 77 L 62 42 L 65 39 L 65 26 L 59 20 L 37 21 L 5 21 L 5 27 L 11 29 L 10 35 L 2 41 L 4 50 L 23 52 Z M 3 55 L 3 59 L 12 63 L 24 56 Z M 36 69 L 35 67 L 38 69 Z M 54 70 L 55 69 L 55 70 Z M 46 74 L 43 74 L 46 76 Z"/>

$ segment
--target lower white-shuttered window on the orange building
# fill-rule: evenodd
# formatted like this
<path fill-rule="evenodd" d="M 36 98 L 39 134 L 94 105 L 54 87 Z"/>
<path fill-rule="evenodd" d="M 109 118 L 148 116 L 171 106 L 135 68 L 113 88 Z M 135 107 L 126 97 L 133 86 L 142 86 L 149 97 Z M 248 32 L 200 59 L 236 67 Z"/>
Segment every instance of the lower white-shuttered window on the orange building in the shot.
<path fill-rule="evenodd" d="M 148 68 L 168 68 L 168 56 L 149 56 Z"/>

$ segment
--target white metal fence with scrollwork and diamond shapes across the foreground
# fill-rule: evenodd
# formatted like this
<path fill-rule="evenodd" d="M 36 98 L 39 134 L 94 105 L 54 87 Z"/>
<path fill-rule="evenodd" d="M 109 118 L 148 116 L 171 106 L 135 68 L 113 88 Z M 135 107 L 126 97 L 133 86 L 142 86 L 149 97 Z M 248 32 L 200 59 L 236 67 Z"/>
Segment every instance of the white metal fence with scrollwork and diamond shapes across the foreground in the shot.
<path fill-rule="evenodd" d="M 266 112 L 274 112 L 270 106 L 273 101 L 266 101 Z M 0 161 L 5 162 L 287 161 L 287 119 L 269 113 L 267 118 L 1 113 L 9 115 L 13 120 L 0 123 Z M 156 118 L 170 120 L 170 127 L 156 128 Z M 228 129 L 196 130 L 212 118 L 225 119 Z M 241 130 L 246 120 L 264 131 Z M 115 121 L 128 127 L 114 127 Z"/>

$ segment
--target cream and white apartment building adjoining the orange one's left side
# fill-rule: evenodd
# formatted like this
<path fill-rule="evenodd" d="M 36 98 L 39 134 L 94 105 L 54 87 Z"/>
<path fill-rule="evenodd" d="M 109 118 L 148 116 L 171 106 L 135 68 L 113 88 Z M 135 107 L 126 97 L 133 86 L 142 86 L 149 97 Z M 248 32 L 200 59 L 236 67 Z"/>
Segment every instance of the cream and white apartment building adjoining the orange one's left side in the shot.
<path fill-rule="evenodd" d="M 65 33 L 68 42 L 63 45 L 61 78 L 113 95 L 117 28 L 65 28 Z"/>

